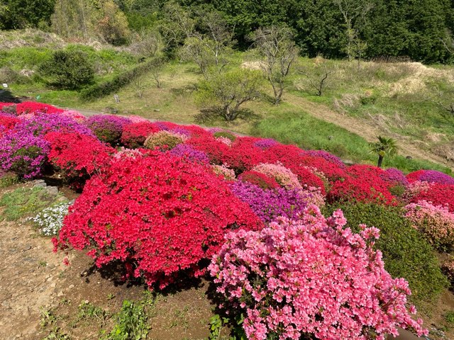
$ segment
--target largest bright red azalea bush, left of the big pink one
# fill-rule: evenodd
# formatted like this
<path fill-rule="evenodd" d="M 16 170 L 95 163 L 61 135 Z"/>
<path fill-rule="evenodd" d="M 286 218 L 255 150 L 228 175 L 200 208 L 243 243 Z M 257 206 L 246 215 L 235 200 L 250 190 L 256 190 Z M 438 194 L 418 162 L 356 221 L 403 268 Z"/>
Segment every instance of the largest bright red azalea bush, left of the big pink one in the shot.
<path fill-rule="evenodd" d="M 56 246 L 87 249 L 96 265 L 122 261 L 160 288 L 179 271 L 204 272 L 231 229 L 262 222 L 206 166 L 170 154 L 118 159 L 87 182 Z"/>

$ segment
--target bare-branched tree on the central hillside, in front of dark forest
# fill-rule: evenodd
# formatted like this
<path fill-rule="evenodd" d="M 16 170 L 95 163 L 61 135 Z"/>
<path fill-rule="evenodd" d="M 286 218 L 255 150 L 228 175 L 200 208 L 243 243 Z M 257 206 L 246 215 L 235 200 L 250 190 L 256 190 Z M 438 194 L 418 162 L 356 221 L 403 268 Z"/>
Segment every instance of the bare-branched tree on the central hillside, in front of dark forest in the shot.
<path fill-rule="evenodd" d="M 285 26 L 259 28 L 251 35 L 259 55 L 260 67 L 272 86 L 275 105 L 281 102 L 286 78 L 298 56 L 298 47 L 292 40 L 292 31 Z"/>

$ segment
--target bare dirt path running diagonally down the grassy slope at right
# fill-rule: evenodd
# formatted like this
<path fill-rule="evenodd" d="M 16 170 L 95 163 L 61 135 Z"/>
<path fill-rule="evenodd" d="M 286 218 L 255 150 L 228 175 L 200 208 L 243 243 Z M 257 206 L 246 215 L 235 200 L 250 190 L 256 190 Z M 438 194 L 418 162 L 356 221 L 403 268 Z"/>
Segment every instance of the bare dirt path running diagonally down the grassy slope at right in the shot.
<path fill-rule="evenodd" d="M 286 94 L 285 99 L 294 106 L 297 106 L 307 113 L 314 115 L 316 118 L 336 124 L 345 130 L 353 132 L 356 135 L 360 135 L 367 140 L 367 142 L 375 142 L 375 140 L 377 140 L 377 135 L 383 133 L 379 129 L 370 125 L 370 123 L 360 120 L 360 118 L 352 118 L 348 115 L 343 115 L 342 113 L 331 110 L 331 108 L 328 108 L 328 106 L 323 104 L 313 103 L 305 98 L 301 98 L 293 94 Z M 401 135 L 393 135 L 392 137 L 397 140 L 401 154 L 404 156 L 411 156 L 413 158 L 425 159 L 434 163 L 444 164 L 454 171 L 453 164 L 446 161 L 442 157 L 438 157 L 436 154 L 432 154 L 431 152 L 426 152 L 425 150 L 417 147 L 414 142 L 406 140 Z"/>

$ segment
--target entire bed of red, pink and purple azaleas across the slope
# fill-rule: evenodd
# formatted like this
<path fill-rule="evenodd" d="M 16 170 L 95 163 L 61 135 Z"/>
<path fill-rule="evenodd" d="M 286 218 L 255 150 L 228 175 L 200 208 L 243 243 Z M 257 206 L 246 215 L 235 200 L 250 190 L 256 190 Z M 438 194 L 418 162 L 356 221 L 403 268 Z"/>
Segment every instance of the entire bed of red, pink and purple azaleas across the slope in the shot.
<path fill-rule="evenodd" d="M 60 210 L 46 229 L 57 234 L 55 250 L 84 250 L 99 267 L 120 264 L 126 278 L 142 279 L 152 290 L 203 276 L 211 261 L 224 308 L 240 306 L 248 339 L 324 339 L 336 322 L 350 339 L 383 339 L 396 327 L 426 333 L 407 301 L 436 300 L 446 280 L 417 224 L 426 218 L 416 221 L 408 212 L 431 195 L 432 205 L 445 207 L 436 207 L 440 214 L 450 214 L 448 175 L 347 166 L 321 150 L 195 125 L 115 115 L 85 120 L 50 106 L 28 107 L 35 109 L 13 112 L 19 122 L 0 138 L 6 145 L 0 162 L 15 157 L 11 136 L 32 136 L 47 148 L 27 176 L 59 176 L 82 193 L 61 229 Z M 138 124 L 145 128 L 134 134 Z M 16 167 L 8 171 L 23 176 Z M 333 217 L 320 209 L 332 209 Z M 390 222 L 399 222 L 394 231 Z M 445 220 L 429 223 L 432 239 L 444 245 Z M 311 257 L 317 251 L 320 263 Z M 309 258 L 311 265 L 303 261 Z M 299 271 L 282 264 L 287 259 Z M 327 278 L 338 282 L 330 283 L 331 293 L 321 289 Z M 285 293 L 279 287 L 287 283 L 294 289 Z M 361 297 L 352 293 L 358 289 Z M 307 305 L 310 292 L 317 299 Z"/>

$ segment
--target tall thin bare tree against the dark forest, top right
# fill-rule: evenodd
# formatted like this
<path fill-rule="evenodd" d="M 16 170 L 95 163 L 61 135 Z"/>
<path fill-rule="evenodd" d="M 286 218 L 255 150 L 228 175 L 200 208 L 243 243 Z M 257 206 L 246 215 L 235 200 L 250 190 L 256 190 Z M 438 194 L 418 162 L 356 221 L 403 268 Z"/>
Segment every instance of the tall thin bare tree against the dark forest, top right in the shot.
<path fill-rule="evenodd" d="M 348 60 L 355 55 L 355 39 L 358 39 L 358 30 L 361 23 L 364 23 L 367 13 L 373 8 L 372 3 L 367 0 L 333 0 L 341 11 L 345 23 L 347 35 L 347 46 L 345 52 Z"/>

